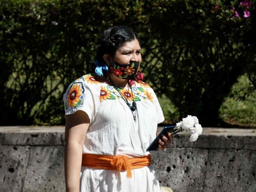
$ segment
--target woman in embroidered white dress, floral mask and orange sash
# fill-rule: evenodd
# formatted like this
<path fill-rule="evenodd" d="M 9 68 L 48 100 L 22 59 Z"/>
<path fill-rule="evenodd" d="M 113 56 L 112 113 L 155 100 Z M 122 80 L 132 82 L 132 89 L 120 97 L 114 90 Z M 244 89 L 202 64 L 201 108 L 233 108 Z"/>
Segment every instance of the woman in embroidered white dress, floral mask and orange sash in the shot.
<path fill-rule="evenodd" d="M 127 26 L 112 27 L 98 45 L 96 74 L 67 88 L 66 191 L 160 191 L 146 149 L 164 116 L 141 81 L 140 62 L 137 35 Z M 160 150 L 170 144 L 168 136 L 159 140 Z"/>

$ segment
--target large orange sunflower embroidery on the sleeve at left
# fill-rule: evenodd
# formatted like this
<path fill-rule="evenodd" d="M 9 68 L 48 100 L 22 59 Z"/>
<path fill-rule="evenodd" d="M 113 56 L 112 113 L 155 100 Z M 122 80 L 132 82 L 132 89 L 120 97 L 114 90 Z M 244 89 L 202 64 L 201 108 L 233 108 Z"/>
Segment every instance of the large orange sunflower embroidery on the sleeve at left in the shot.
<path fill-rule="evenodd" d="M 67 95 L 66 107 L 77 108 L 84 96 L 84 87 L 81 82 L 73 83 Z"/>

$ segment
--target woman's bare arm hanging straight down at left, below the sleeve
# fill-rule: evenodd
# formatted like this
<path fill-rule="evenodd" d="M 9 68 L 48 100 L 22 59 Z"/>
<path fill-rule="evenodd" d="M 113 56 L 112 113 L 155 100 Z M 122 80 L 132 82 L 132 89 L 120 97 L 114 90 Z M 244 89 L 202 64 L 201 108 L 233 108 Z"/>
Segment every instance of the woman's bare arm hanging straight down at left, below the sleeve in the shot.
<path fill-rule="evenodd" d="M 90 119 L 83 111 L 66 115 L 64 155 L 66 192 L 79 192 L 83 145 L 89 125 Z"/>

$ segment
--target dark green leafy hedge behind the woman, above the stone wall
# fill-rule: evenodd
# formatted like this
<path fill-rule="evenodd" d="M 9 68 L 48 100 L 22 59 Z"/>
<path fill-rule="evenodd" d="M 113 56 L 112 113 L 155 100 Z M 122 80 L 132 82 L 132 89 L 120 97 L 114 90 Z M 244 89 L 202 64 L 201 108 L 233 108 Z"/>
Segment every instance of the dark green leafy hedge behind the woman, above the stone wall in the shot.
<path fill-rule="evenodd" d="M 141 38 L 145 81 L 178 118 L 216 126 L 230 87 L 255 63 L 254 5 L 243 18 L 232 9 L 242 11 L 239 1 L 1 0 L 0 124 L 64 124 L 65 89 L 94 70 L 104 30 L 126 24 Z"/>

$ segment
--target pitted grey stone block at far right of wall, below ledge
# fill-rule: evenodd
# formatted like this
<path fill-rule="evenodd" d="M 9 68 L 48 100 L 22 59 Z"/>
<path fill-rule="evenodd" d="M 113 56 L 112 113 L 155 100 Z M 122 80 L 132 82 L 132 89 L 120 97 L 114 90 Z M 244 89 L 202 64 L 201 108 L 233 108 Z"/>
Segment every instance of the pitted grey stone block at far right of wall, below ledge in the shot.
<path fill-rule="evenodd" d="M 256 191 L 256 153 L 250 150 L 209 150 L 203 191 Z"/>

